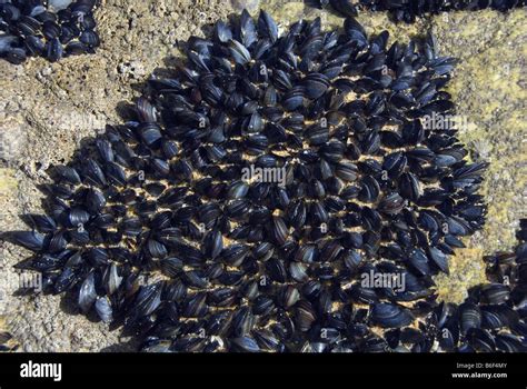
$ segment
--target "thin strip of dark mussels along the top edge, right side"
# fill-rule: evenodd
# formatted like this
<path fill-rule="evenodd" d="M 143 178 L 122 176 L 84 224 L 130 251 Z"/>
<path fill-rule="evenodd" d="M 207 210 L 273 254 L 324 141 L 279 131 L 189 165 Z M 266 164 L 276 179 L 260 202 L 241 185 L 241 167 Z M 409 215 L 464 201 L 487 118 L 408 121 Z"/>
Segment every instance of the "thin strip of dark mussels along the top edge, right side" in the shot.
<path fill-rule="evenodd" d="M 395 21 L 412 23 L 416 18 L 457 10 L 490 8 L 501 12 L 525 7 L 525 0 L 306 0 L 316 8 L 330 8 L 344 17 L 356 17 L 358 11 L 387 11 Z"/>

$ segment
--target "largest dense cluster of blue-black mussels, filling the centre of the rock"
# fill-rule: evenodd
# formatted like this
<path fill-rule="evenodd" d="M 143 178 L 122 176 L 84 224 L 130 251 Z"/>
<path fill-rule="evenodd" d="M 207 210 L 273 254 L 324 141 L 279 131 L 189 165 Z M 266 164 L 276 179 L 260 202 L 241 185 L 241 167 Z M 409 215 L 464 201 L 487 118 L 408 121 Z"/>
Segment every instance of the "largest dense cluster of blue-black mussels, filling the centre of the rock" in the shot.
<path fill-rule="evenodd" d="M 454 112 L 454 59 L 388 40 L 265 11 L 192 37 L 133 121 L 52 169 L 48 213 L 4 237 L 34 251 L 19 267 L 143 350 L 431 350 L 432 276 L 483 226 L 486 164 L 427 124 Z"/>

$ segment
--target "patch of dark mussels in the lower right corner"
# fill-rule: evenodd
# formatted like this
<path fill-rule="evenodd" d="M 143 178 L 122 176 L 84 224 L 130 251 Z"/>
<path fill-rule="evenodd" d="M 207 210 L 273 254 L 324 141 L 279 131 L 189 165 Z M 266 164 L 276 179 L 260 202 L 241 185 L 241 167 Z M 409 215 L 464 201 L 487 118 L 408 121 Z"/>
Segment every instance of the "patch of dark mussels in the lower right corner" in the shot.
<path fill-rule="evenodd" d="M 441 303 L 428 318 L 441 350 L 527 351 L 527 219 L 513 252 L 486 257 L 488 283 L 471 288 L 464 303 Z"/>

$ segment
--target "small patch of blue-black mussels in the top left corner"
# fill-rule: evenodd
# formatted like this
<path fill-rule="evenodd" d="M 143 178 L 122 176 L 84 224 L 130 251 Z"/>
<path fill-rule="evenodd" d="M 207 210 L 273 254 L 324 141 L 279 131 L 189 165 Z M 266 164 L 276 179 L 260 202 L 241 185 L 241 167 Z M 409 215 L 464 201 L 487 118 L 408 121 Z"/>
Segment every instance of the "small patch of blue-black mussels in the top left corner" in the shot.
<path fill-rule="evenodd" d="M 0 58 L 19 64 L 28 57 L 56 62 L 92 53 L 100 44 L 97 0 L 0 0 Z"/>

